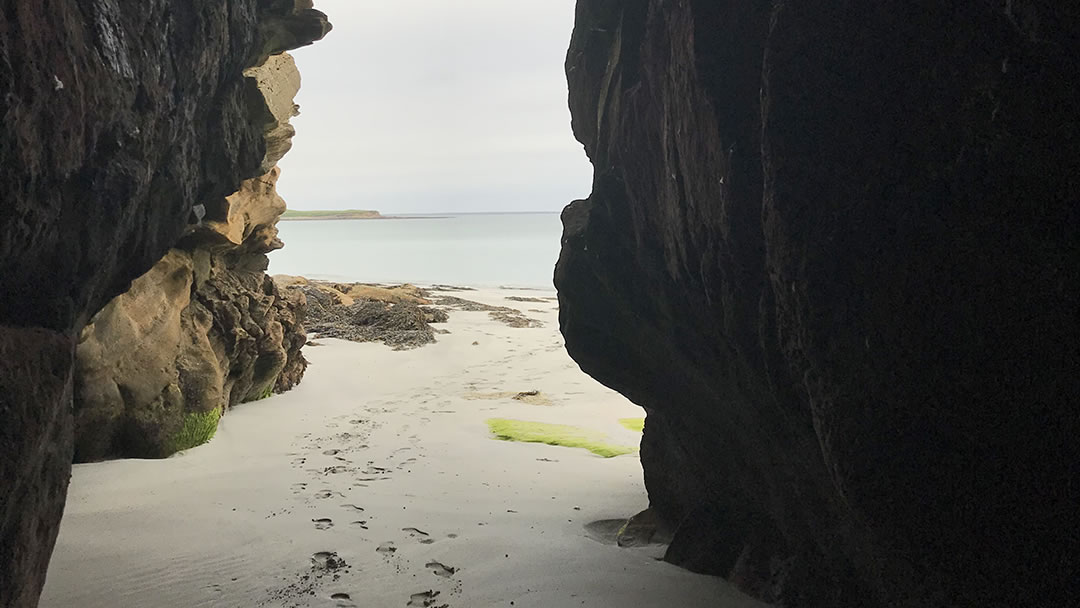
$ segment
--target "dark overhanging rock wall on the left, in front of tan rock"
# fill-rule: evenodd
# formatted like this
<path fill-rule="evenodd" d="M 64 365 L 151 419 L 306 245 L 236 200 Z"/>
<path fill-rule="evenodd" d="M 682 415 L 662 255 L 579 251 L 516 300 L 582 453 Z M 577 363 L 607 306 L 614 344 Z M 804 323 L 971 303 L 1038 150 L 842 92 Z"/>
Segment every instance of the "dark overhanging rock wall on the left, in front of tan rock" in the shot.
<path fill-rule="evenodd" d="M 2 9 L 0 606 L 22 607 L 37 603 L 63 512 L 83 327 L 200 211 L 224 220 L 226 197 L 272 166 L 280 120 L 244 70 L 329 25 L 310 0 Z M 183 299 L 174 262 L 165 295 Z"/>

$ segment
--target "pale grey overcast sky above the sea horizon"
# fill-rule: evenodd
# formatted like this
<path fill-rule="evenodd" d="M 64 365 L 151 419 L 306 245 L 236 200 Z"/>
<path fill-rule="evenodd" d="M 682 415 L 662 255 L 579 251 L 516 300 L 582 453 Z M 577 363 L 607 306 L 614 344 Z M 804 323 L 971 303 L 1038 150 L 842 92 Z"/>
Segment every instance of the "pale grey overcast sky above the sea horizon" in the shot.
<path fill-rule="evenodd" d="M 291 208 L 558 211 L 589 194 L 563 62 L 573 0 L 315 0 L 293 54 Z"/>

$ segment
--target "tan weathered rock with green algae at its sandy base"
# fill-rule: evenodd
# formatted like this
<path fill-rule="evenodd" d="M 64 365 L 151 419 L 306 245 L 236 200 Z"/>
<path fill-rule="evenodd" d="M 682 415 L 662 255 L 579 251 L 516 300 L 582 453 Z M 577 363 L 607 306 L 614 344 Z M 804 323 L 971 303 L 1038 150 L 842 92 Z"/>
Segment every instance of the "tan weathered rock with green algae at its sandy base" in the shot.
<path fill-rule="evenodd" d="M 238 403 L 287 390 L 307 367 L 302 293 L 264 272 L 280 248 L 279 170 L 227 199 L 82 332 L 76 461 L 168 456 L 199 445 Z"/>

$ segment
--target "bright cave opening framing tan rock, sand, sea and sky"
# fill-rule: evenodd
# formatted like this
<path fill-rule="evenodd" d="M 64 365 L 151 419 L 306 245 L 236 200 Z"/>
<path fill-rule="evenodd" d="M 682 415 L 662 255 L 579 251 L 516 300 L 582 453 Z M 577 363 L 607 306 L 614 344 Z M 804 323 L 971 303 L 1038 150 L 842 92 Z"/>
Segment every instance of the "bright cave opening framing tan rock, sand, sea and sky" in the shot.
<path fill-rule="evenodd" d="M 559 333 L 575 3 L 318 9 L 326 39 L 245 72 L 261 175 L 83 330 L 41 605 L 733 593 L 660 562 L 644 411 Z"/>

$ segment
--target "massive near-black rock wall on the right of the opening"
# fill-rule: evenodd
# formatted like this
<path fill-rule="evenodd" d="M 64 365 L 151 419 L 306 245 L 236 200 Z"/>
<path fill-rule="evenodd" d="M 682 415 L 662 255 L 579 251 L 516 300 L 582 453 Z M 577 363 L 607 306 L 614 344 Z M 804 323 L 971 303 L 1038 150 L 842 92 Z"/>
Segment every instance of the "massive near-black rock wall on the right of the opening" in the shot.
<path fill-rule="evenodd" d="M 580 0 L 567 348 L 667 558 L 784 606 L 1067 606 L 1080 12 Z"/>

